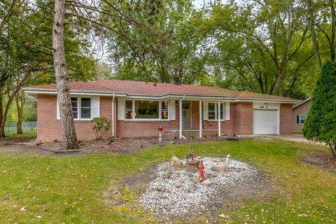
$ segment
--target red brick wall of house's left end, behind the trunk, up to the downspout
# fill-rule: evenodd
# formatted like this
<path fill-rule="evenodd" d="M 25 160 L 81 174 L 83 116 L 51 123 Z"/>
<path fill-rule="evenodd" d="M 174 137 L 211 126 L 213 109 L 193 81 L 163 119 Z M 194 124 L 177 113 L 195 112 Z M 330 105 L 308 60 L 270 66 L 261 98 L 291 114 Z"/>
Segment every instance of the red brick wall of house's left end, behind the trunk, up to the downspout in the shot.
<path fill-rule="evenodd" d="M 100 97 L 100 116 L 112 118 L 112 97 Z M 56 96 L 38 94 L 37 101 L 37 138 L 41 141 L 62 140 L 62 130 L 59 120 L 56 119 Z M 94 139 L 91 120 L 75 120 L 78 139 Z M 104 137 L 111 137 L 112 130 Z"/>

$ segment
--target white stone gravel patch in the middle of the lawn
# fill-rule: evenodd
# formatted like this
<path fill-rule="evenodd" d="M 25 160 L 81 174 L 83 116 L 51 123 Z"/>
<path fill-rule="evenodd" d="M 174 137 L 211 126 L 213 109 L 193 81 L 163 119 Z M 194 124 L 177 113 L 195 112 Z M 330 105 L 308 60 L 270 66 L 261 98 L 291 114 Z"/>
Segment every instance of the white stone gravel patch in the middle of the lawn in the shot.
<path fill-rule="evenodd" d="M 218 204 L 218 194 L 253 182 L 255 176 L 258 176 L 257 169 L 245 162 L 231 159 L 228 172 L 220 173 L 211 171 L 211 167 L 225 165 L 225 158 L 197 159 L 203 160 L 204 177 L 212 182 L 210 186 L 204 186 L 198 181 L 199 172 L 189 173 L 186 167 L 171 167 L 166 162 L 158 165 L 156 179 L 148 183 L 146 192 L 139 197 L 142 207 L 163 216 L 207 211 Z M 176 188 L 179 185 L 181 187 Z"/>

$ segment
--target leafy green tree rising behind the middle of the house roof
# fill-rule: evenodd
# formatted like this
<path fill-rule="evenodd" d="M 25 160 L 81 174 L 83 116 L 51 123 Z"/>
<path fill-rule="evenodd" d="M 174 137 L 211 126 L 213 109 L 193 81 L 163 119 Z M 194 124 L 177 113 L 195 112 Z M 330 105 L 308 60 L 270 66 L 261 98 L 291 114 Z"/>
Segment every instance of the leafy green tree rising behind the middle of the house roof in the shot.
<path fill-rule="evenodd" d="M 138 24 L 106 18 L 123 33 L 109 31 L 106 35 L 116 78 L 162 83 L 200 80 L 204 59 L 199 53 L 191 0 L 120 1 L 119 7 Z M 106 4 L 106 10 L 109 8 Z"/>

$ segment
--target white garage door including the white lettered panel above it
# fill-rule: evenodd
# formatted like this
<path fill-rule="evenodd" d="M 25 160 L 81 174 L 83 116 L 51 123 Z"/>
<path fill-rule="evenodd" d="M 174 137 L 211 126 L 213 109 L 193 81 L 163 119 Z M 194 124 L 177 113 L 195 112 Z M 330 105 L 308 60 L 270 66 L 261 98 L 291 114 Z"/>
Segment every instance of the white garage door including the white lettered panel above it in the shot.
<path fill-rule="evenodd" d="M 279 134 L 279 105 L 253 104 L 253 134 Z"/>

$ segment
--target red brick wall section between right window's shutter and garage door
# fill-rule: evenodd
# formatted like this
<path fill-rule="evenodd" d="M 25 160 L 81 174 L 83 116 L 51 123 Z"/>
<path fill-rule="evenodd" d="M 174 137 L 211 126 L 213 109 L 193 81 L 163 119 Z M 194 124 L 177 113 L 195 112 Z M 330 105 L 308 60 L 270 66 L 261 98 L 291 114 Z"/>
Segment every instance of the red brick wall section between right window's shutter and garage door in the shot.
<path fill-rule="evenodd" d="M 235 134 L 253 134 L 253 103 L 236 104 Z"/>

